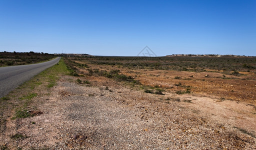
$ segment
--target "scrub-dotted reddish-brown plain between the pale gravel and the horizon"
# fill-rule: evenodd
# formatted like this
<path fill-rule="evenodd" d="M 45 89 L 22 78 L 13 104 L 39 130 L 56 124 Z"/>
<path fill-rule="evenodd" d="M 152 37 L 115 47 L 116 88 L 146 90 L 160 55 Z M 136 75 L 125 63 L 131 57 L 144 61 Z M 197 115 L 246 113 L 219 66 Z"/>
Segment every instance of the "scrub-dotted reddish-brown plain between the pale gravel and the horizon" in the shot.
<path fill-rule="evenodd" d="M 148 60 L 147 60 L 148 59 Z M 76 72 L 119 70 L 142 85 L 172 93 L 192 93 L 255 103 L 256 57 L 71 57 Z M 77 65 L 79 64 L 79 65 Z M 81 67 L 86 65 L 85 67 Z M 180 69 L 185 67 L 186 69 Z M 192 69 L 189 69 L 192 68 Z M 94 74 L 95 75 L 95 74 Z M 100 75 L 99 75 L 100 76 Z M 178 85 L 180 84 L 180 85 Z"/>

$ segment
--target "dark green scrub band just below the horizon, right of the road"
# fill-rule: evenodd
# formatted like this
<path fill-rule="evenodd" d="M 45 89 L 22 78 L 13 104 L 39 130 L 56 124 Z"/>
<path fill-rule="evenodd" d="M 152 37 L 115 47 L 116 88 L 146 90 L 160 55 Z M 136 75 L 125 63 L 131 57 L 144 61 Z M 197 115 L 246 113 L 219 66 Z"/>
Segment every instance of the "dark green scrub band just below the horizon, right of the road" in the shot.
<path fill-rule="evenodd" d="M 76 60 L 77 57 L 68 59 Z M 80 58 L 82 59 L 82 58 Z M 159 69 L 159 70 L 178 70 L 201 72 L 209 69 L 225 71 L 247 71 L 253 70 L 255 57 L 234 57 L 214 55 L 208 56 L 162 56 L 162 57 L 102 57 L 94 56 L 86 58 L 87 62 L 96 65 L 123 66 L 128 69 Z M 149 61 L 150 60 L 150 61 Z M 77 64 L 78 66 L 78 64 Z"/>

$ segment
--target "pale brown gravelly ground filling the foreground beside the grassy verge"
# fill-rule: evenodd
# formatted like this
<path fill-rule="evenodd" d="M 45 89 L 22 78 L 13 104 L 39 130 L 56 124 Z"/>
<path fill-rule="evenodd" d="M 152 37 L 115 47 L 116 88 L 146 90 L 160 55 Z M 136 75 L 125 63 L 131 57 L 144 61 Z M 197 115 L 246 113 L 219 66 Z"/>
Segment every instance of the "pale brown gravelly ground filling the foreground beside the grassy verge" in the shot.
<path fill-rule="evenodd" d="M 90 86 L 75 80 L 62 76 L 50 94 L 34 98 L 42 114 L 9 118 L 0 144 L 10 149 L 256 149 L 254 105 L 150 94 L 114 80 Z M 23 137 L 11 138 L 17 133 Z"/>

